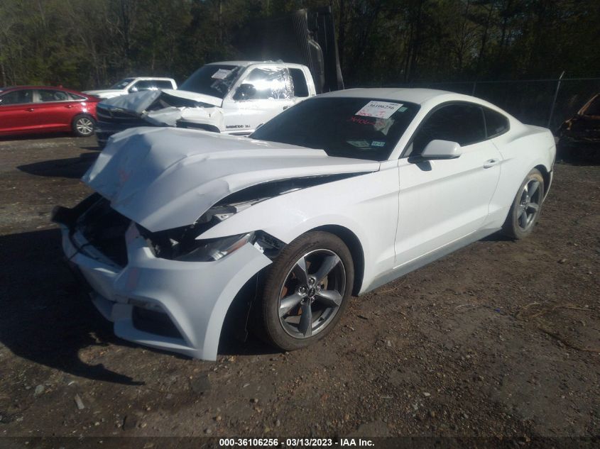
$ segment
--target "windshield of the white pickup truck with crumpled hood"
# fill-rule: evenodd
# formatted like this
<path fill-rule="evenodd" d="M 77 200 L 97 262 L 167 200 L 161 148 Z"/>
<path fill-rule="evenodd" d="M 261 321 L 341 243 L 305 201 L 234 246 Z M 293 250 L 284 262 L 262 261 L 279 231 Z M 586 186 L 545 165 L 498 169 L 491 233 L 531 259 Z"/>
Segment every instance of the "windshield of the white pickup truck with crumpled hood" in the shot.
<path fill-rule="evenodd" d="M 222 99 L 236 81 L 244 67 L 240 65 L 204 65 L 192 73 L 179 87 L 180 90 L 217 96 Z"/>

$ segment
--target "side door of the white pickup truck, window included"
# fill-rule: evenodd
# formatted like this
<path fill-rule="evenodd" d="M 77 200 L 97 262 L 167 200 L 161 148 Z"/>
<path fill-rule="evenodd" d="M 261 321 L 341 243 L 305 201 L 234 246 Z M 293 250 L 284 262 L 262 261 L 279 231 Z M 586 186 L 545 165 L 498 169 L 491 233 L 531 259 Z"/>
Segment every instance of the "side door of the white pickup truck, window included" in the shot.
<path fill-rule="evenodd" d="M 287 67 L 251 67 L 223 101 L 225 132 L 250 133 L 294 103 Z"/>

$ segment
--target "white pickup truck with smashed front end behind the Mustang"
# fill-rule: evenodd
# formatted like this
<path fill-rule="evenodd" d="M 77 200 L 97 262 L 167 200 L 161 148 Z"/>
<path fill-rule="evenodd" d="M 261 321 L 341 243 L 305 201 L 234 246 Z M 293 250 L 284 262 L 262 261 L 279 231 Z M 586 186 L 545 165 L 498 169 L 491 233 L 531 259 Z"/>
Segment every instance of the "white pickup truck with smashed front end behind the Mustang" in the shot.
<path fill-rule="evenodd" d="M 136 92 L 97 106 L 101 147 L 135 126 L 177 126 L 248 135 L 281 111 L 316 94 L 305 65 L 272 61 L 212 62 L 178 90 Z"/>

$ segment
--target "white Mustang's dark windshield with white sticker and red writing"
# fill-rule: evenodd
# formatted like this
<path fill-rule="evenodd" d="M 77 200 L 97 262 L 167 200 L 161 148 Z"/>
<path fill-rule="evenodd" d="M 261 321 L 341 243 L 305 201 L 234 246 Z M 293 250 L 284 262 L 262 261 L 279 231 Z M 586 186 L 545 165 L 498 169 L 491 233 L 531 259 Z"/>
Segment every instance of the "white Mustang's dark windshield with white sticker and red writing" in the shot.
<path fill-rule="evenodd" d="M 251 138 L 320 148 L 330 156 L 387 160 L 418 110 L 406 101 L 307 99 L 265 123 Z"/>

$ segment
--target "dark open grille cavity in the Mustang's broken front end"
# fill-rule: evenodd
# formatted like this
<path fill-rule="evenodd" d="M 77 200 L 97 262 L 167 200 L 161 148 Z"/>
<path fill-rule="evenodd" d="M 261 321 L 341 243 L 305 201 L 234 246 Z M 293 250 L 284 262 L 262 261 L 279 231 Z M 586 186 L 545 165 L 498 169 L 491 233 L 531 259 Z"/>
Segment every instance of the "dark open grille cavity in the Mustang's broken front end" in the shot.
<path fill-rule="evenodd" d="M 120 267 L 127 265 L 125 233 L 131 220 L 100 199 L 77 220 L 80 231 L 94 248 Z"/>

